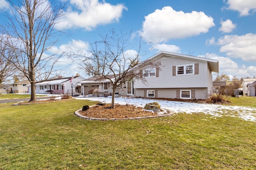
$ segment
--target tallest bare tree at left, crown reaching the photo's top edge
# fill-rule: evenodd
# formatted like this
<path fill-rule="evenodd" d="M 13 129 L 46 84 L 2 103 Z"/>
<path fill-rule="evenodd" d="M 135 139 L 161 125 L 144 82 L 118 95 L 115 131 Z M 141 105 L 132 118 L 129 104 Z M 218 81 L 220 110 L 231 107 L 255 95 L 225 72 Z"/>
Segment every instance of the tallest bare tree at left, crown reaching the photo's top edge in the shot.
<path fill-rule="evenodd" d="M 46 51 L 57 41 L 60 30 L 56 29 L 58 19 L 63 15 L 63 4 L 50 0 L 8 0 L 2 26 L 8 36 L 5 44 L 14 53 L 11 61 L 30 81 L 30 102 L 36 100 L 36 78 L 48 78 L 59 55 L 46 55 Z"/>

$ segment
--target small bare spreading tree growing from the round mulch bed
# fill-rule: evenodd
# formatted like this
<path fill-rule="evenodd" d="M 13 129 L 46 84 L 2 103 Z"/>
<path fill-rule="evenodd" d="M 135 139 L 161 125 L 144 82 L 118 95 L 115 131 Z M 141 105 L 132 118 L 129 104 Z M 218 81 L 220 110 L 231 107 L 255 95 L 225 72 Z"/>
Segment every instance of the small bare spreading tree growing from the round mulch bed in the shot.
<path fill-rule="evenodd" d="M 114 94 L 120 82 L 141 80 L 146 83 L 142 76 L 142 70 L 147 67 L 156 68 L 160 62 L 150 60 L 140 61 L 141 42 L 140 38 L 136 50 L 130 50 L 131 33 L 116 33 L 110 30 L 110 34 L 100 35 L 100 41 L 91 44 L 91 51 L 84 55 L 78 55 L 79 63 L 90 76 L 97 76 L 98 80 L 108 79 L 112 88 L 112 104 L 114 108 Z M 144 53 L 146 54 L 146 52 Z"/>

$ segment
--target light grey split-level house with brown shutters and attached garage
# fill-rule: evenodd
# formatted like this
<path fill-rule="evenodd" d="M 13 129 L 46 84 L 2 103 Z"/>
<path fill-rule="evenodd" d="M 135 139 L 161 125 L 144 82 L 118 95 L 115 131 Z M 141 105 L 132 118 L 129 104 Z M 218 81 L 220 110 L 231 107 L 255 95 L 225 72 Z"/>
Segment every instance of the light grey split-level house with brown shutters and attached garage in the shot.
<path fill-rule="evenodd" d="M 148 67 L 142 72 L 142 80 L 120 82 L 118 93 L 122 96 L 146 98 L 207 99 L 212 94 L 212 72 L 219 72 L 217 60 L 160 51 L 150 61 L 161 62 L 161 68 Z M 84 95 L 89 90 L 111 92 L 108 80 L 97 78 L 80 82 Z"/>

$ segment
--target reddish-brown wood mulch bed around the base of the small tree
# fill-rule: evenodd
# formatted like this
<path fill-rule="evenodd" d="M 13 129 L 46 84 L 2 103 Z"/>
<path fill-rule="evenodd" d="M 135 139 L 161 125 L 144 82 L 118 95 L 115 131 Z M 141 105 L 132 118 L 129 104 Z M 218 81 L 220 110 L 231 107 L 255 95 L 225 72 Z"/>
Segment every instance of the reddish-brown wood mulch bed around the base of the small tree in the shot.
<path fill-rule="evenodd" d="M 133 105 L 115 104 L 115 108 L 110 108 L 111 104 L 105 106 L 93 106 L 86 111 L 80 111 L 85 117 L 105 118 L 105 119 L 124 119 L 129 117 L 148 117 L 156 116 L 158 112 L 146 111 L 142 107 Z M 168 112 L 166 113 L 168 114 Z"/>

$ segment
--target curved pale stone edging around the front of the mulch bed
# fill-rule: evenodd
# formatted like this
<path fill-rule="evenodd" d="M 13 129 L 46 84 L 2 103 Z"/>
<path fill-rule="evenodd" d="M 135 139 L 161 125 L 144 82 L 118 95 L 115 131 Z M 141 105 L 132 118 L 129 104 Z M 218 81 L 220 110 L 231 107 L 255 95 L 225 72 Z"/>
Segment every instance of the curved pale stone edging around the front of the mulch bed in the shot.
<path fill-rule="evenodd" d="M 95 105 L 93 105 L 95 106 Z M 90 106 L 90 107 L 93 107 L 93 106 Z M 74 112 L 74 114 L 82 119 L 86 119 L 86 120 L 134 120 L 134 119 L 148 119 L 148 118 L 154 118 L 154 117 L 166 117 L 166 116 L 171 116 L 173 115 L 174 113 L 170 110 L 171 113 L 169 114 L 164 114 L 164 115 L 156 115 L 156 116 L 146 116 L 146 117 L 129 117 L 129 118 L 122 118 L 122 119 L 116 119 L 116 118 L 111 118 L 111 119 L 106 119 L 106 118 L 95 118 L 95 117 L 86 117 L 86 116 L 83 116 L 81 115 L 79 112 L 82 111 L 82 109 L 79 109 L 77 111 Z"/>

